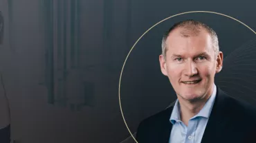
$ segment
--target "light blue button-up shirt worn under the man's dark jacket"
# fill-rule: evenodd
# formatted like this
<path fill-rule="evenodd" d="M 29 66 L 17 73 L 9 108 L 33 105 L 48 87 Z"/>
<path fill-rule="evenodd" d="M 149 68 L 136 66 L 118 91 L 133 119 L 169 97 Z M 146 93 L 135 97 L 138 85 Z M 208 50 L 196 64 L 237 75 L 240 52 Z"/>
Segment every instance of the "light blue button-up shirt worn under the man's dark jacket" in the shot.
<path fill-rule="evenodd" d="M 205 131 L 205 126 L 212 111 L 212 106 L 217 93 L 217 87 L 214 85 L 212 95 L 207 100 L 201 111 L 190 118 L 188 126 L 181 121 L 180 105 L 177 99 L 172 110 L 170 122 L 172 122 L 172 131 L 170 133 L 169 143 L 200 143 Z"/>

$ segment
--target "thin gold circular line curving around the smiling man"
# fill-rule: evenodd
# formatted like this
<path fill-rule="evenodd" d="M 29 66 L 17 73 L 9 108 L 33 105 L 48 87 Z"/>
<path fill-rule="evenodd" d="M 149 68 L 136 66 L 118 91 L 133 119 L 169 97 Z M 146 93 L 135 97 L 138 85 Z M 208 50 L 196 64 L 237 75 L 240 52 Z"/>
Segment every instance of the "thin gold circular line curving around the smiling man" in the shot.
<path fill-rule="evenodd" d="M 237 19 L 235 19 L 235 18 L 233 18 L 233 17 L 230 17 L 230 16 L 228 16 L 228 15 L 226 15 L 226 14 L 221 14 L 221 13 L 219 13 L 219 12 L 210 12 L 210 11 L 190 11 L 190 12 L 182 12 L 182 13 L 175 14 L 175 15 L 173 15 L 173 16 L 167 17 L 166 19 L 163 19 L 162 21 L 159 21 L 158 23 L 156 23 L 155 25 L 153 25 L 151 28 L 149 28 L 146 32 L 144 32 L 144 34 L 143 34 L 142 36 L 140 36 L 140 38 L 136 41 L 136 43 L 134 43 L 134 45 L 131 47 L 131 50 L 129 51 L 127 57 L 125 58 L 125 63 L 126 63 L 126 61 L 127 61 L 127 58 L 129 57 L 129 54 L 130 54 L 131 51 L 134 49 L 134 47 L 135 47 L 135 45 L 138 43 L 138 41 L 140 41 L 140 39 L 141 39 L 147 32 L 149 32 L 149 30 L 151 30 L 152 28 L 154 28 L 156 25 L 158 25 L 159 23 L 162 23 L 163 21 L 166 21 L 167 19 L 171 19 L 172 17 L 176 17 L 176 16 L 179 16 L 179 15 L 182 15 L 182 14 L 197 13 L 197 12 L 219 14 L 219 15 L 222 15 L 222 16 L 224 16 L 224 17 L 228 17 L 228 18 L 230 18 L 230 19 L 233 19 L 233 20 L 235 20 L 235 21 L 237 21 L 237 22 L 243 24 L 244 26 L 246 26 L 246 28 L 250 29 L 254 34 L 256 34 L 256 32 L 255 32 L 252 28 L 250 28 L 248 25 L 246 25 L 245 23 L 242 23 L 241 21 L 239 21 L 239 20 L 237 20 Z M 123 69 L 124 69 L 124 67 L 125 67 L 125 63 L 122 65 L 122 71 L 123 71 Z M 119 105 L 120 105 L 120 111 L 121 111 L 121 113 L 122 113 L 122 105 L 121 105 L 121 99 L 120 99 L 120 83 L 121 83 L 121 79 L 122 79 L 122 71 L 121 71 L 121 73 L 120 73 L 119 87 L 118 87 L 118 97 L 119 97 Z M 135 142 L 137 142 L 137 140 L 135 139 L 134 135 L 132 135 L 131 131 L 129 130 L 129 127 L 127 126 L 127 122 L 125 121 L 125 116 L 124 116 L 123 113 L 122 113 L 122 119 L 124 120 L 125 126 L 127 127 L 129 133 L 131 134 L 131 137 L 133 137 L 134 140 L 135 140 Z M 137 142 L 137 143 L 138 143 L 138 142 Z"/>

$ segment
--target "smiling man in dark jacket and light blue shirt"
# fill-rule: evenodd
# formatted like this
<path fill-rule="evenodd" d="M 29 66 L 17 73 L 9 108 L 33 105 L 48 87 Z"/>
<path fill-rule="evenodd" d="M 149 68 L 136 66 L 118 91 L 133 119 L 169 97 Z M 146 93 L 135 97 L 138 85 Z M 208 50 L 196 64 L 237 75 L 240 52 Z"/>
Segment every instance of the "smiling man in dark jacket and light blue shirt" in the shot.
<path fill-rule="evenodd" d="M 138 143 L 256 142 L 256 109 L 214 84 L 223 65 L 214 30 L 194 20 L 176 23 L 163 36 L 159 61 L 177 100 L 140 123 Z"/>

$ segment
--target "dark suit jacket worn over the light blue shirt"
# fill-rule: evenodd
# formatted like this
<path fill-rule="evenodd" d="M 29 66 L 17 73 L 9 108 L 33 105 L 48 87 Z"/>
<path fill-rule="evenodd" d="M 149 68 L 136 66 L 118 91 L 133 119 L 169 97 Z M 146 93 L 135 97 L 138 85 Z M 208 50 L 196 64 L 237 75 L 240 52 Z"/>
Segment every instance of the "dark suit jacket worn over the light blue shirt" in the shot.
<path fill-rule="evenodd" d="M 172 130 L 172 109 L 173 106 L 140 122 L 136 134 L 138 143 L 168 142 Z M 228 96 L 217 87 L 217 95 L 201 142 L 256 143 L 256 109 Z"/>

